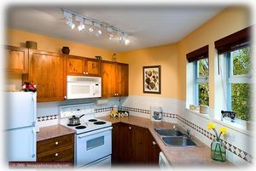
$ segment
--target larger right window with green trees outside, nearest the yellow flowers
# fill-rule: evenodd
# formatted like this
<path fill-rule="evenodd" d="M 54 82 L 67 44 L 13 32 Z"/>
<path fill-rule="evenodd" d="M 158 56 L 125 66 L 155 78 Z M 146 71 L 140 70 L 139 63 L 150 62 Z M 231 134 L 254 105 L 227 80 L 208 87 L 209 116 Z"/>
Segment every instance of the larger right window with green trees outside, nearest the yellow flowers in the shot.
<path fill-rule="evenodd" d="M 227 97 L 228 109 L 236 112 L 236 117 L 251 120 L 251 54 L 250 47 L 239 48 L 226 53 L 227 69 Z"/>

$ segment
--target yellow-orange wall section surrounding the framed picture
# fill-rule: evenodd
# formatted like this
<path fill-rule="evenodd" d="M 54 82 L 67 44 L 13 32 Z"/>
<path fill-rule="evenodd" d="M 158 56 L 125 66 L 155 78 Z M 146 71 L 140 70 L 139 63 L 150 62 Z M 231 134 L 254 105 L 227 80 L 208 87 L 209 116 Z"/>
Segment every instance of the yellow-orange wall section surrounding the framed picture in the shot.
<path fill-rule="evenodd" d="M 177 98 L 177 45 L 132 50 L 121 54 L 129 64 L 129 94 Z M 161 94 L 143 94 L 143 66 L 161 66 Z"/>

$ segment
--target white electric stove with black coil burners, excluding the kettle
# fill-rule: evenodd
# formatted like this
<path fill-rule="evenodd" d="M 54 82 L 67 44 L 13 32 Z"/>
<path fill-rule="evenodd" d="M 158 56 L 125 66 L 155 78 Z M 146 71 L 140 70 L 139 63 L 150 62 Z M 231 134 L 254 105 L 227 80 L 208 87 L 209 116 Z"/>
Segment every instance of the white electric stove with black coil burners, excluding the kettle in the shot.
<path fill-rule="evenodd" d="M 95 117 L 94 104 L 61 105 L 60 124 L 75 131 L 75 167 L 111 167 L 112 123 Z M 79 125 L 69 119 L 79 118 Z M 83 117 L 81 117 L 83 116 Z"/>

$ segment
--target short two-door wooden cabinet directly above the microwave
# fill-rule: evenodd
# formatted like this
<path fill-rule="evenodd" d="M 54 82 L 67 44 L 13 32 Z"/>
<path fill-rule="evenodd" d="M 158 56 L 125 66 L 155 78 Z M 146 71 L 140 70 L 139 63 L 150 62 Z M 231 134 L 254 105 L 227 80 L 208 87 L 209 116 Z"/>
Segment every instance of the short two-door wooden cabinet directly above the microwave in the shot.
<path fill-rule="evenodd" d="M 67 55 L 67 75 L 99 77 L 100 62 L 95 59 Z"/>

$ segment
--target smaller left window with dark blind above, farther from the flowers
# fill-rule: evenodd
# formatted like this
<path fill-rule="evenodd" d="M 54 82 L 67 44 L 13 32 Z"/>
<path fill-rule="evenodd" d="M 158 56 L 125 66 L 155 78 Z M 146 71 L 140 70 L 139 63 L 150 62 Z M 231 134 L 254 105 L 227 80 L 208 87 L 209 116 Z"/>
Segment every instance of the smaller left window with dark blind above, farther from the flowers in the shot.
<path fill-rule="evenodd" d="M 209 62 L 208 59 L 194 62 L 195 105 L 209 105 Z"/>

